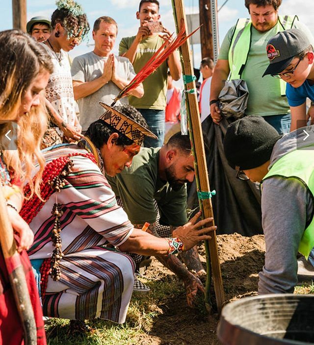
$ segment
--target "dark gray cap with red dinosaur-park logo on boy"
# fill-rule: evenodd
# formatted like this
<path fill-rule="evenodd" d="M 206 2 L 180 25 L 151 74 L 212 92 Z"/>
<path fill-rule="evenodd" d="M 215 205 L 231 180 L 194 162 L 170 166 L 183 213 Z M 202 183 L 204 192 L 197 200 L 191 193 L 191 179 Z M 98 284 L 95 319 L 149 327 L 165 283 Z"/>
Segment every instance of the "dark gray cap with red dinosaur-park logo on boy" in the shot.
<path fill-rule="evenodd" d="M 262 75 L 278 74 L 285 70 L 292 59 L 311 44 L 306 34 L 299 29 L 288 29 L 278 32 L 266 47 L 269 65 Z"/>

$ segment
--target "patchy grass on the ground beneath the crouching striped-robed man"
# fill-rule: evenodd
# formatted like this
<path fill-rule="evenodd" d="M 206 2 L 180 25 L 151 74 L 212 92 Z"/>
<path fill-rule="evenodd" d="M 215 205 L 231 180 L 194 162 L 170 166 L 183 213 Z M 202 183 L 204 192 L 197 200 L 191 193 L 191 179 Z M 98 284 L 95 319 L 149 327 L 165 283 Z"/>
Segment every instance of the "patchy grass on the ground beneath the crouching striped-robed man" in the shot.
<path fill-rule="evenodd" d="M 173 276 L 156 281 L 145 281 L 151 291 L 134 293 L 123 325 L 101 319 L 87 321 L 93 329 L 86 334 L 69 334 L 69 320 L 53 318 L 46 325 L 48 345 L 135 345 L 138 337 L 149 334 L 154 318 L 163 314 L 162 307 L 184 293 L 183 285 Z"/>

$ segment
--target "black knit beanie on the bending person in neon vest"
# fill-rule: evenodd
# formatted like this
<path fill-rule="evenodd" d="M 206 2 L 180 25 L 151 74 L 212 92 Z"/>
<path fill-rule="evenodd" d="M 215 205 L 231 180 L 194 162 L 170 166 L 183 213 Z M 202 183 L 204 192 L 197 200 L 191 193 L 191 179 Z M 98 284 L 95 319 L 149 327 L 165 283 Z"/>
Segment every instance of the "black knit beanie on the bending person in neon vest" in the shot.
<path fill-rule="evenodd" d="M 276 142 L 281 138 L 262 116 L 245 116 L 231 123 L 224 139 L 228 164 L 235 169 L 249 170 L 266 163 Z"/>

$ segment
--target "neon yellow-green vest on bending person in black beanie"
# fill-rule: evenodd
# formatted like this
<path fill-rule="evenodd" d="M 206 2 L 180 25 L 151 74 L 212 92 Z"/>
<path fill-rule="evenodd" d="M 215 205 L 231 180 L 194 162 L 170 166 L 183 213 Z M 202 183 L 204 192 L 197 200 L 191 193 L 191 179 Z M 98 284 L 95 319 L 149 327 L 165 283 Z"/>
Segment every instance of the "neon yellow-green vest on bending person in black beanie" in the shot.
<path fill-rule="evenodd" d="M 287 153 L 270 168 L 263 181 L 273 176 L 297 178 L 311 193 L 314 201 L 314 150 L 295 150 Z M 291 200 L 291 204 L 293 207 L 293 200 Z M 313 247 L 314 217 L 303 233 L 299 244 L 299 252 L 308 258 Z"/>

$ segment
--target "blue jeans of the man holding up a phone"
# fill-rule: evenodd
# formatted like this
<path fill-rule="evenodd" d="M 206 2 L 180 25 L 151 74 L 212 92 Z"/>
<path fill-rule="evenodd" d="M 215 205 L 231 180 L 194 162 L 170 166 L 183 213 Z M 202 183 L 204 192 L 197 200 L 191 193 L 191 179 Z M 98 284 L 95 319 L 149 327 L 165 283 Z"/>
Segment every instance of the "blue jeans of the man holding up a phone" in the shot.
<path fill-rule="evenodd" d="M 144 147 L 161 147 L 165 137 L 165 111 L 157 109 L 137 109 L 148 123 L 149 129 L 158 139 L 145 137 Z"/>

